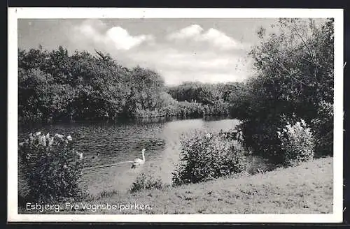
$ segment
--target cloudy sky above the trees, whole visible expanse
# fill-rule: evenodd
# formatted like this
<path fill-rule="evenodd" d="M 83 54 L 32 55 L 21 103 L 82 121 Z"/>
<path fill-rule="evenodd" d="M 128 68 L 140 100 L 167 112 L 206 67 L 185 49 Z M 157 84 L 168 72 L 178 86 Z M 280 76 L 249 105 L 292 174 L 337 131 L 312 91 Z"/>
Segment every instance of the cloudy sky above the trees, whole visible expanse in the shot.
<path fill-rule="evenodd" d="M 260 27 L 276 19 L 20 19 L 18 47 L 62 45 L 100 50 L 127 67 L 158 72 L 166 84 L 184 81 L 239 82 L 249 77 L 247 52 Z"/>

